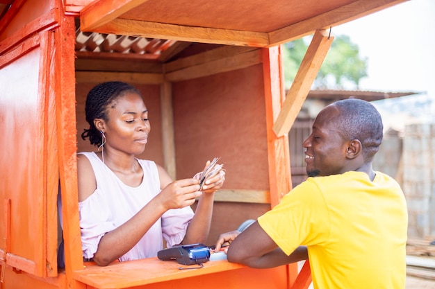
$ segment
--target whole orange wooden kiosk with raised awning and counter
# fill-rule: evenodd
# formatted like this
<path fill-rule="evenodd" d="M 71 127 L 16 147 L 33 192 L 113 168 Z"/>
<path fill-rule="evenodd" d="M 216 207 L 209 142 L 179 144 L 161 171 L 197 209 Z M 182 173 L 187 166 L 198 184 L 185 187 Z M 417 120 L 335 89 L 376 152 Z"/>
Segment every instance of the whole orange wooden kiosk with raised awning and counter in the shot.
<path fill-rule="evenodd" d="M 85 95 L 105 80 L 138 87 L 153 128 L 141 157 L 174 178 L 221 157 L 227 180 L 216 194 L 213 245 L 290 191 L 287 133 L 333 39 L 325 29 L 402 1 L 0 0 L 1 288 L 307 288 L 308 263 L 299 274 L 296 264 L 83 263 L 76 152 L 95 149 L 79 137 Z M 310 34 L 286 96 L 279 44 Z M 88 46 L 101 35 L 161 45 L 154 54 L 77 51 L 79 35 Z"/>

